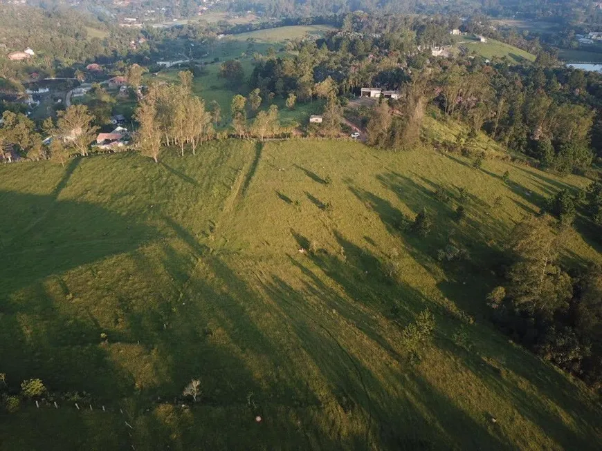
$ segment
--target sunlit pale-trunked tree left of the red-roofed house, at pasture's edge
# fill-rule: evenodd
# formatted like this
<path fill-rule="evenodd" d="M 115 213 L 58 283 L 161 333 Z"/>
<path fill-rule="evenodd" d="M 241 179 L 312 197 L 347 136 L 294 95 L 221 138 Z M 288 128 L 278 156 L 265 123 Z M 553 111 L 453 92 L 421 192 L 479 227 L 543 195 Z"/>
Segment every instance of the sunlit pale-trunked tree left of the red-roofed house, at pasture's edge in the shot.
<path fill-rule="evenodd" d="M 71 105 L 58 114 L 58 135 L 66 146 L 82 156 L 88 155 L 89 145 L 98 131 L 97 127 L 92 126 L 93 119 L 85 105 Z"/>

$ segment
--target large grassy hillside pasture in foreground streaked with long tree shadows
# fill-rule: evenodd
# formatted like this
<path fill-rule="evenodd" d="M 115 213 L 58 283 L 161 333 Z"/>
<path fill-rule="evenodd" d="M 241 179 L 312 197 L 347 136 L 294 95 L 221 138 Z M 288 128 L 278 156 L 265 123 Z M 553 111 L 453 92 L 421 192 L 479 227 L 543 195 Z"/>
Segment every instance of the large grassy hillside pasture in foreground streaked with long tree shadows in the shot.
<path fill-rule="evenodd" d="M 591 392 L 489 325 L 481 264 L 587 180 L 349 142 L 175 155 L 0 166 L 0 371 L 92 406 L 24 403 L 0 450 L 601 448 Z M 423 208 L 427 239 L 407 231 Z M 569 235 L 571 258 L 600 260 L 590 238 Z M 439 263 L 448 242 L 473 264 Z"/>

